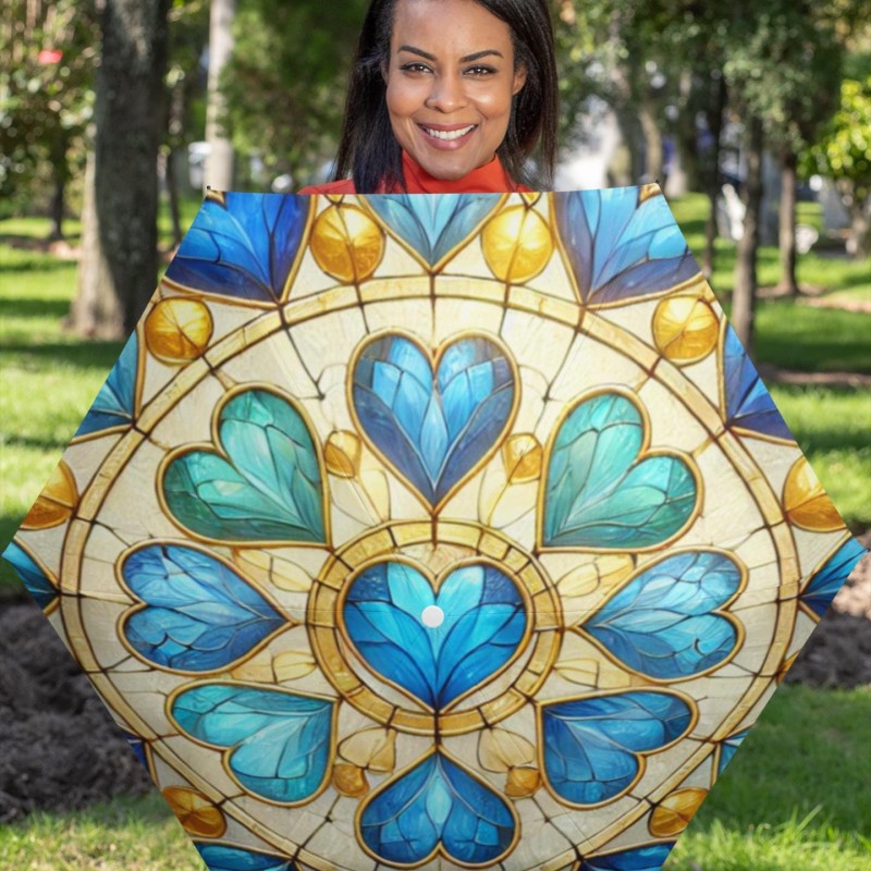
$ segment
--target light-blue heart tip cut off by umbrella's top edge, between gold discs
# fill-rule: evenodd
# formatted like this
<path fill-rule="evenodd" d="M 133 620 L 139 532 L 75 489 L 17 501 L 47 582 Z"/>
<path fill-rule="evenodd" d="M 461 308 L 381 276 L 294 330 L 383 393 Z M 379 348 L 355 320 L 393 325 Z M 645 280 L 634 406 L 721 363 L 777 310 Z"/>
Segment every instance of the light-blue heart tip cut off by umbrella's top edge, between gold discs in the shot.
<path fill-rule="evenodd" d="M 501 194 L 443 194 L 421 197 L 393 194 L 367 198 L 366 205 L 406 243 L 425 266 L 436 268 L 504 198 Z"/>

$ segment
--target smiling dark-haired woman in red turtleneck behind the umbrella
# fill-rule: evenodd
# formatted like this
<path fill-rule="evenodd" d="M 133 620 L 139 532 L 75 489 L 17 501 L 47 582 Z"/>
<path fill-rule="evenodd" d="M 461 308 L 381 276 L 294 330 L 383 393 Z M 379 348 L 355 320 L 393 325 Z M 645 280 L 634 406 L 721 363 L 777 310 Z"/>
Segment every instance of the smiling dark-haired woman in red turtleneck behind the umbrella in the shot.
<path fill-rule="evenodd" d="M 335 181 L 299 193 L 550 187 L 556 103 L 547 0 L 372 0 Z"/>

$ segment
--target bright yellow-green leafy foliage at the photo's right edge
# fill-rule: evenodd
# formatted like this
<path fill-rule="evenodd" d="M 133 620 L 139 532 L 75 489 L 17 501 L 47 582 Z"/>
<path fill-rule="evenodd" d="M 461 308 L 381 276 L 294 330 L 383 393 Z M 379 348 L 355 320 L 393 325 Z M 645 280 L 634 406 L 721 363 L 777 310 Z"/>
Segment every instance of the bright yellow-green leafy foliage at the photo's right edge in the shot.
<path fill-rule="evenodd" d="M 811 149 L 810 162 L 834 181 L 849 211 L 852 253 L 871 256 L 871 75 L 842 82 L 841 102 Z"/>

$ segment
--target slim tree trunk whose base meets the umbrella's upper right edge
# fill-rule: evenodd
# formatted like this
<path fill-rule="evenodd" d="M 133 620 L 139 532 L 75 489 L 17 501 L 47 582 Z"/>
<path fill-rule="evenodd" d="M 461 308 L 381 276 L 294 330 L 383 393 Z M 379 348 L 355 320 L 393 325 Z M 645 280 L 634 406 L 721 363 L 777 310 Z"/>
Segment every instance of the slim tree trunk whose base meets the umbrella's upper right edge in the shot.
<path fill-rule="evenodd" d="M 762 204 L 762 122 L 751 118 L 747 135 L 747 181 L 745 183 L 744 236 L 738 242 L 735 290 L 732 295 L 732 326 L 748 354 L 753 348 L 753 312 L 757 291 L 757 253 Z"/>

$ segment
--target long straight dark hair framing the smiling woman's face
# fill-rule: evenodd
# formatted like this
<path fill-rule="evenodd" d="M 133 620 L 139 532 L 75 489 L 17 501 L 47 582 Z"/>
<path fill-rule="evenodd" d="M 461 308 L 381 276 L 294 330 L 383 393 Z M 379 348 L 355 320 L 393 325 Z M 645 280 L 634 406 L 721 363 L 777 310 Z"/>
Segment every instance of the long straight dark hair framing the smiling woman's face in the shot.
<path fill-rule="evenodd" d="M 372 0 L 363 23 L 348 79 L 345 120 L 334 179 L 351 174 L 360 194 L 380 183 L 405 189 L 402 149 L 393 135 L 387 105 L 382 64 L 390 62 L 390 40 L 398 0 Z M 549 189 L 553 184 L 559 122 L 556 60 L 553 26 L 547 0 L 476 0 L 504 21 L 512 32 L 515 71 L 526 64 L 523 89 L 512 101 L 499 159 L 515 182 Z M 538 145 L 538 149 L 536 146 Z M 529 165 L 535 158 L 537 172 Z"/>

